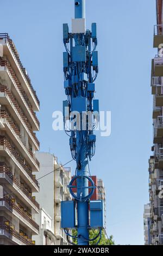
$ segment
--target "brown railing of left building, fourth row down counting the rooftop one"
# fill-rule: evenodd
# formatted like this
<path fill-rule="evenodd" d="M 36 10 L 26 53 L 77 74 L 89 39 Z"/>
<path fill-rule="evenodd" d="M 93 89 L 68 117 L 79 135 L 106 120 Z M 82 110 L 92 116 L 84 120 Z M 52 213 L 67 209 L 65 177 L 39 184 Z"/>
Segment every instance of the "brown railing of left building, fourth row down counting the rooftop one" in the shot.
<path fill-rule="evenodd" d="M 9 129 L 11 130 L 11 132 L 15 133 L 15 137 L 17 139 L 17 141 L 21 144 L 21 147 L 24 149 L 24 151 L 26 151 L 26 154 L 28 155 L 28 157 L 30 158 L 30 160 L 32 162 L 34 162 L 34 164 L 37 166 L 37 168 L 39 168 L 36 159 L 34 159 L 34 155 L 33 152 L 30 148 L 27 148 L 26 143 L 24 143 L 20 130 L 18 130 L 14 120 L 11 118 L 11 115 L 5 111 L 5 110 L 1 110 L 1 118 L 4 120 L 4 123 L 6 123 L 9 127 Z"/>

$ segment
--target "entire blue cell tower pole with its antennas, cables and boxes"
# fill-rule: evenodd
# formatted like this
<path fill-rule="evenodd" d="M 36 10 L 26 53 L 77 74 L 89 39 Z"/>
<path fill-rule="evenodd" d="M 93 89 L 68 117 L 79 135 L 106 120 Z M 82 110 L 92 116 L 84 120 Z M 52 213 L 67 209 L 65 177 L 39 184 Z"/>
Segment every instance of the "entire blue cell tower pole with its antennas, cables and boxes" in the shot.
<path fill-rule="evenodd" d="M 95 80 L 98 74 L 97 36 L 96 23 L 92 23 L 91 31 L 89 29 L 85 30 L 85 0 L 74 1 L 74 16 L 75 19 L 72 19 L 72 33 L 69 32 L 67 23 L 63 25 L 66 49 L 66 52 L 64 52 L 64 88 L 67 95 L 67 100 L 63 102 L 63 114 L 64 124 L 66 119 L 74 121 L 70 130 L 65 129 L 65 131 L 71 134 L 69 135 L 71 155 L 77 163 L 76 174 L 68 185 L 76 204 L 73 201 L 62 202 L 61 226 L 65 229 L 66 235 L 71 236 L 66 228 L 76 228 L 74 213 L 77 205 L 78 245 L 89 245 L 89 229 L 102 227 L 102 207 L 99 206 L 102 205 L 102 202 L 97 200 L 96 203 L 90 200 L 95 190 L 95 184 L 89 176 L 88 162 L 95 155 L 96 135 L 93 134 L 93 131 L 98 123 L 97 117 L 95 117 L 98 114 L 95 115 L 94 113 L 99 113 L 98 100 L 94 99 Z M 67 116 L 65 110 L 67 107 L 70 110 L 68 110 L 69 114 L 70 112 L 77 112 L 77 114 Z M 83 114 L 86 114 L 86 117 L 83 117 Z M 80 118 L 80 128 L 77 125 L 78 121 L 75 121 L 77 116 Z M 75 185 L 73 184 L 74 181 L 76 181 Z M 73 188 L 77 189 L 77 194 L 73 192 Z M 96 210 L 95 204 L 99 210 L 101 223 L 98 221 L 96 223 L 95 220 L 97 218 L 97 212 L 94 212 Z M 67 220 L 66 209 L 72 212 L 70 220 Z"/>

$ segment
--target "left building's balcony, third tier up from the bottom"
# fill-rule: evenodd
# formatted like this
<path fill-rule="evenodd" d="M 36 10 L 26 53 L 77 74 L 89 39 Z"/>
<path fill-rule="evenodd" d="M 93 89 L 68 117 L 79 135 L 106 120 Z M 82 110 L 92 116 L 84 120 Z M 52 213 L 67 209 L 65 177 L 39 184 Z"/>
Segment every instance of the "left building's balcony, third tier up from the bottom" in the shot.
<path fill-rule="evenodd" d="M 32 197 L 32 193 L 15 178 L 11 173 L 10 167 L 7 167 L 3 162 L 0 162 L 0 181 L 1 183 L 6 183 L 11 192 L 14 192 L 29 208 L 32 207 L 35 212 L 39 213 L 40 205 Z"/>

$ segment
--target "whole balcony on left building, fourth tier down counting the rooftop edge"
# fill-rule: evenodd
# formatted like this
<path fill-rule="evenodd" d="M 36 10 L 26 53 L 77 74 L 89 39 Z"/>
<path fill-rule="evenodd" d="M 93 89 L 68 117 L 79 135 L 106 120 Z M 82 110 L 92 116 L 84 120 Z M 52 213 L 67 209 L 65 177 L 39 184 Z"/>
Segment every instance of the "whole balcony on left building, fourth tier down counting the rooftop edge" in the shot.
<path fill-rule="evenodd" d="M 39 170 L 38 161 L 35 159 L 32 150 L 26 146 L 26 143 L 24 143 L 20 130 L 18 130 L 11 115 L 5 110 L 1 110 L 1 120 L 4 124 L 4 129 L 2 130 L 7 131 L 8 136 L 17 145 L 17 148 L 21 151 L 23 157 L 28 157 L 28 161 L 33 168 Z"/>

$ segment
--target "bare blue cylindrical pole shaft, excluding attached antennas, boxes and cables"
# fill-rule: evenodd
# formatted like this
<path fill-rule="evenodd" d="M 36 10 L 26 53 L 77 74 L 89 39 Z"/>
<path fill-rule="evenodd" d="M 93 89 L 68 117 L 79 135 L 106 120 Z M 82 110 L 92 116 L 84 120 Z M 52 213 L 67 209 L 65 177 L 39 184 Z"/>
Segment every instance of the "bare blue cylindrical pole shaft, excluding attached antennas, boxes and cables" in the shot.
<path fill-rule="evenodd" d="M 75 19 L 85 18 L 85 0 L 78 0 L 74 1 L 75 5 Z M 81 42 L 81 41 L 80 41 Z M 79 45 L 78 38 L 76 39 L 76 44 Z M 83 138 L 81 141 L 81 134 L 83 133 Z M 77 175 L 86 175 L 89 176 L 89 169 L 88 169 L 88 159 L 86 153 L 86 136 L 87 133 L 85 131 L 78 131 L 77 132 L 77 146 L 82 145 L 81 153 L 80 153 L 80 161 L 81 161 L 81 169 L 77 169 Z M 88 180 L 78 179 L 77 180 L 77 196 L 80 197 L 81 193 L 83 197 L 89 194 L 88 188 Z M 89 203 L 78 201 L 77 202 L 77 212 L 78 212 L 78 236 L 84 237 L 86 240 L 89 240 Z M 78 238 L 78 245 L 89 245 L 88 241 L 84 241 L 82 238 Z"/>

